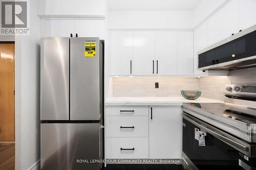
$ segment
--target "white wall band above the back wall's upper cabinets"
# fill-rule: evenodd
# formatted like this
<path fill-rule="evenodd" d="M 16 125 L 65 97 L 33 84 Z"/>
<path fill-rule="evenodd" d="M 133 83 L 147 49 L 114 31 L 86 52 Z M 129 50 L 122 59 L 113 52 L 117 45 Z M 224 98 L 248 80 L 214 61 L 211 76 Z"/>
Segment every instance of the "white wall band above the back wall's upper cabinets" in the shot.
<path fill-rule="evenodd" d="M 110 11 L 109 29 L 191 29 L 192 11 Z"/>

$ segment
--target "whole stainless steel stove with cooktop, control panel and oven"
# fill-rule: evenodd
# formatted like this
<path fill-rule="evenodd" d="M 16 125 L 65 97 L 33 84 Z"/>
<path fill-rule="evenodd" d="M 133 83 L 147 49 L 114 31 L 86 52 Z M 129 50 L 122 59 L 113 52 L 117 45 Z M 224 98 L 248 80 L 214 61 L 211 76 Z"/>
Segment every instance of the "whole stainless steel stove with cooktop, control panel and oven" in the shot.
<path fill-rule="evenodd" d="M 226 103 L 182 105 L 184 168 L 256 169 L 254 90 L 256 86 L 227 85 Z"/>

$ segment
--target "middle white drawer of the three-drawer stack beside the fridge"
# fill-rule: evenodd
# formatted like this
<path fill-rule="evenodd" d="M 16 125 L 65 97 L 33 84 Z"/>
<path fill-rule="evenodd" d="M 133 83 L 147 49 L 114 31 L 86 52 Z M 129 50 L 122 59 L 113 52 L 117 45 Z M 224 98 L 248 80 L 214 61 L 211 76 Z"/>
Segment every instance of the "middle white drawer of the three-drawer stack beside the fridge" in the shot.
<path fill-rule="evenodd" d="M 106 137 L 148 137 L 147 116 L 106 117 Z"/>

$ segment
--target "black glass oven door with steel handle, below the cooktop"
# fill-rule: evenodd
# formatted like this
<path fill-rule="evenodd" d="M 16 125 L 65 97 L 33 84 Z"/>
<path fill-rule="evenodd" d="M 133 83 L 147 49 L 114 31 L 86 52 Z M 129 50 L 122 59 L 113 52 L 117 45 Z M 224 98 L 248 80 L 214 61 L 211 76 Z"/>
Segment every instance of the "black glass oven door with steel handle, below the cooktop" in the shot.
<path fill-rule="evenodd" d="M 195 129 L 206 133 L 199 146 Z M 183 112 L 182 157 L 186 169 L 256 169 L 255 144 Z"/>

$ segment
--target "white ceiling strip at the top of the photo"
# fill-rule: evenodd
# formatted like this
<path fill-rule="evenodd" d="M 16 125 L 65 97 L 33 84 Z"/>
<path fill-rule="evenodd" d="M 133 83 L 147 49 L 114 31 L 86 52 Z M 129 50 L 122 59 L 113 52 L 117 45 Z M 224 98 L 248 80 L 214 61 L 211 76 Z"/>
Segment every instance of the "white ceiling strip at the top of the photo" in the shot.
<path fill-rule="evenodd" d="M 202 0 L 108 0 L 110 11 L 193 10 Z"/>

